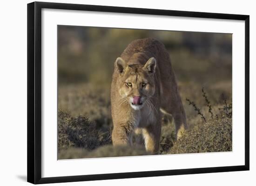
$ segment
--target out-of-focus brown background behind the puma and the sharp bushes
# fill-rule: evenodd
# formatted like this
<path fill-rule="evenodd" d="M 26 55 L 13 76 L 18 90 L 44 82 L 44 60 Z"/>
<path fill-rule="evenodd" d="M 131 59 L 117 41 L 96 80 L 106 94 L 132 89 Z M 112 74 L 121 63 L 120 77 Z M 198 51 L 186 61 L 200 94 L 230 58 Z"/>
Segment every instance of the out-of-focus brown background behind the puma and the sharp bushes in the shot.
<path fill-rule="evenodd" d="M 186 98 L 209 114 L 202 88 L 213 111 L 223 104 L 222 94 L 232 102 L 232 34 L 58 26 L 58 108 L 70 117 L 88 117 L 101 136 L 107 133 L 106 144 L 111 144 L 110 84 L 115 59 L 131 41 L 147 37 L 161 41 L 169 52 L 190 128 L 202 118 Z M 163 122 L 170 130 L 167 135 L 172 135 L 172 119 Z"/>

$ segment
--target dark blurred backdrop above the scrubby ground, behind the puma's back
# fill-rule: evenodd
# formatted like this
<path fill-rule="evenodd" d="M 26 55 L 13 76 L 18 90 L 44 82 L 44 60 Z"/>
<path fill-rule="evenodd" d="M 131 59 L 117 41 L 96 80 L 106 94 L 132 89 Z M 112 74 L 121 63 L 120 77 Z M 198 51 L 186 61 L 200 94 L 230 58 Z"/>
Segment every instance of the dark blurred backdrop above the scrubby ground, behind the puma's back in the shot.
<path fill-rule="evenodd" d="M 232 34 L 59 26 L 60 85 L 110 83 L 115 59 L 131 41 L 147 37 L 166 46 L 179 81 L 230 80 Z"/>

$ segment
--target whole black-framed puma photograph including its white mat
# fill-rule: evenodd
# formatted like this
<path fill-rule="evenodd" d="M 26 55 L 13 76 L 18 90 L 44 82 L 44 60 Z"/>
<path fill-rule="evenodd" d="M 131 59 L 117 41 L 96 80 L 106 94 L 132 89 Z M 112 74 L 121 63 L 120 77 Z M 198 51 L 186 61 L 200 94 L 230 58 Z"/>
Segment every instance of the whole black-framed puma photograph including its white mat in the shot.
<path fill-rule="evenodd" d="M 27 5 L 27 181 L 249 170 L 249 15 Z"/>

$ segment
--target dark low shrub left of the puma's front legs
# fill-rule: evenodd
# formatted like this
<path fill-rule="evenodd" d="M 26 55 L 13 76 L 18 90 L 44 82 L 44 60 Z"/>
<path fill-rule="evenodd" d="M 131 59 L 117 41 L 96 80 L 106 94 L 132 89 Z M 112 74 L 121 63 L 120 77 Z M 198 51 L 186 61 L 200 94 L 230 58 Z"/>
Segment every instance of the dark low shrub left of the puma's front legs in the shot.
<path fill-rule="evenodd" d="M 110 129 L 102 132 L 86 116 L 71 117 L 58 111 L 58 150 L 71 147 L 92 150 L 111 143 Z"/>

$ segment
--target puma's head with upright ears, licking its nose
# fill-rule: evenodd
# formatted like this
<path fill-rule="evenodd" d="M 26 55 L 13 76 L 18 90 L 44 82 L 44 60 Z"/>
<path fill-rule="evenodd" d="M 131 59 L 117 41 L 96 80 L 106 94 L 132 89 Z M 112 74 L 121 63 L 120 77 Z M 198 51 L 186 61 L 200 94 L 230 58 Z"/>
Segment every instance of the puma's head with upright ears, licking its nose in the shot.
<path fill-rule="evenodd" d="M 127 64 L 122 58 L 115 61 L 115 69 L 119 73 L 117 80 L 121 103 L 128 102 L 135 110 L 141 109 L 148 98 L 155 93 L 155 58 L 148 59 L 145 65 Z M 148 103 L 150 104 L 150 103 Z"/>

